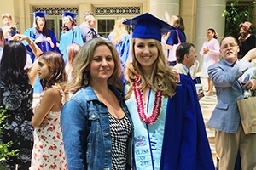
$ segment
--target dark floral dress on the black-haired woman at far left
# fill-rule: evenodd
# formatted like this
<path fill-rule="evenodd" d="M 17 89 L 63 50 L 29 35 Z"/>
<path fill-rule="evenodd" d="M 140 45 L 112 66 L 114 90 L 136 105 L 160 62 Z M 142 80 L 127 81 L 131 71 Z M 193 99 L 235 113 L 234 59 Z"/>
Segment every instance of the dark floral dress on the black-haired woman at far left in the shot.
<path fill-rule="evenodd" d="M 17 156 L 8 156 L 2 165 L 9 165 L 8 169 L 15 169 L 16 164 L 25 164 L 32 159 L 33 130 L 31 119 L 32 112 L 32 86 L 27 80 L 24 84 L 6 84 L 0 81 L 0 105 L 7 111 L 8 116 L 3 124 L 3 133 L 0 133 L 0 143 L 13 144 L 9 150 L 19 150 Z"/>

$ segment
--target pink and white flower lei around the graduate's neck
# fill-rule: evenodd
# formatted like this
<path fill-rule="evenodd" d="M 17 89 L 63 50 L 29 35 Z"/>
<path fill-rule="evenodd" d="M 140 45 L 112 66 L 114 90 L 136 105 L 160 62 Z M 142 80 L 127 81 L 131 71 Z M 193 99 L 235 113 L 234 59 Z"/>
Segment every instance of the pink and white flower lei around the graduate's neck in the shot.
<path fill-rule="evenodd" d="M 132 88 L 133 88 L 133 92 L 136 99 L 138 115 L 140 116 L 141 120 L 146 124 L 153 124 L 154 122 L 157 121 L 158 117 L 160 116 L 163 93 L 161 91 L 157 91 L 154 94 L 154 106 L 153 106 L 152 114 L 151 116 L 148 116 L 148 113 L 147 114 L 145 113 L 146 111 L 143 105 L 144 99 L 143 99 L 142 90 L 140 89 L 140 82 L 139 82 L 138 75 L 135 75 L 135 79 L 132 82 Z"/>

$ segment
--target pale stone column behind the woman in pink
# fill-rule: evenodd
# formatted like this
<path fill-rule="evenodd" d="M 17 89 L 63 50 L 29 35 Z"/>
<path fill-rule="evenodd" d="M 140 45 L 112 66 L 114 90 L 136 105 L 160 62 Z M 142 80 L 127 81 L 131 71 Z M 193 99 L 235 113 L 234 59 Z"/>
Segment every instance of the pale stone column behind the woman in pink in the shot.
<path fill-rule="evenodd" d="M 226 0 L 197 1 L 195 50 L 198 54 L 197 60 L 201 64 L 200 70 L 202 70 L 202 57 L 199 52 L 203 42 L 207 41 L 207 29 L 213 28 L 218 32 L 218 41 L 224 37 L 225 20 L 222 13 L 225 8 Z"/>

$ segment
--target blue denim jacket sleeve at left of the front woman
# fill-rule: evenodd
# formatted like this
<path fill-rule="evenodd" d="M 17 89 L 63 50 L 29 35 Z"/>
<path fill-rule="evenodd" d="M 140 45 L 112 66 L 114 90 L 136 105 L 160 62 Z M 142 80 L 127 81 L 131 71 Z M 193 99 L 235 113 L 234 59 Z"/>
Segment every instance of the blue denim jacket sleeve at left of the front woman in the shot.
<path fill-rule="evenodd" d="M 67 169 L 86 167 L 86 123 L 84 108 L 76 100 L 69 99 L 61 109 L 61 127 Z"/>

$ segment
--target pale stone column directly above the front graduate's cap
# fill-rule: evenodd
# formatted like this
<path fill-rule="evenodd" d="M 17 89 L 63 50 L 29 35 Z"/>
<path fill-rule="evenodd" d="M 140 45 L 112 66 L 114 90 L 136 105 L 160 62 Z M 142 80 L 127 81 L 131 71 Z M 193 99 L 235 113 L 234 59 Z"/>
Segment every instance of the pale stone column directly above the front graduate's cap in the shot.
<path fill-rule="evenodd" d="M 149 9 L 151 14 L 169 22 L 173 14 L 179 14 L 179 0 L 150 0 Z"/>

